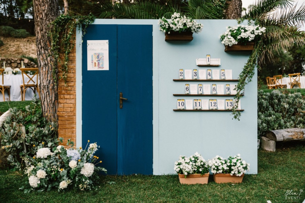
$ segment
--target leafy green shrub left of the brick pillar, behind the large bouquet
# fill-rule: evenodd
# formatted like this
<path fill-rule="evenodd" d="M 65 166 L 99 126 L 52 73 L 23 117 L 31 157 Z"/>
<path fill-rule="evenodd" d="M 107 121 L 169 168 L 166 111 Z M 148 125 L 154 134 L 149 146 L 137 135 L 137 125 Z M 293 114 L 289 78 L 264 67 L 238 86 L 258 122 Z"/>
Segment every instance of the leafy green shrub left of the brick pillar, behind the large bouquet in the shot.
<path fill-rule="evenodd" d="M 38 148 L 50 147 L 59 141 L 56 136 L 56 124 L 47 122 L 42 116 L 40 100 L 36 95 L 26 110 L 18 110 L 16 107 L 9 110 L 12 116 L 7 117 L 0 128 L 0 138 L 2 149 L 8 152 L 7 160 L 15 171 L 26 166 L 20 156 L 33 157 Z"/>

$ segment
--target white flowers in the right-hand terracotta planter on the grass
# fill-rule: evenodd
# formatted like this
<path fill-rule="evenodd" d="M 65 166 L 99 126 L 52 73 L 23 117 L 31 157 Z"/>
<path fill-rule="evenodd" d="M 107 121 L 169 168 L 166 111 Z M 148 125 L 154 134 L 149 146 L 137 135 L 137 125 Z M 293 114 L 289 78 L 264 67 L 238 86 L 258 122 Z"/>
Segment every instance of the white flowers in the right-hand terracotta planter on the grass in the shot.
<path fill-rule="evenodd" d="M 212 173 L 230 173 L 232 175 L 241 176 L 246 171 L 250 170 L 250 164 L 240 158 L 240 154 L 227 159 L 221 156 L 215 156 L 208 160 L 208 165 L 211 167 Z"/>

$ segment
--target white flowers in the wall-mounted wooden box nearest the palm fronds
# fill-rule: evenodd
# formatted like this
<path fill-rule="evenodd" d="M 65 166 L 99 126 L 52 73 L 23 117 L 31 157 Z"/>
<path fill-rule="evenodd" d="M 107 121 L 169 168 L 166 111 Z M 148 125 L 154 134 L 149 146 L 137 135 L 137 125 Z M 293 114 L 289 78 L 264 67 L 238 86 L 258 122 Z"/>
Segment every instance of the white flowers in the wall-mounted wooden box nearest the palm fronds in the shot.
<path fill-rule="evenodd" d="M 241 25 L 228 26 L 226 31 L 219 36 L 221 43 L 224 45 L 232 46 L 237 43 L 251 42 L 257 37 L 261 36 L 265 31 L 265 27 L 260 27 L 259 25 Z"/>

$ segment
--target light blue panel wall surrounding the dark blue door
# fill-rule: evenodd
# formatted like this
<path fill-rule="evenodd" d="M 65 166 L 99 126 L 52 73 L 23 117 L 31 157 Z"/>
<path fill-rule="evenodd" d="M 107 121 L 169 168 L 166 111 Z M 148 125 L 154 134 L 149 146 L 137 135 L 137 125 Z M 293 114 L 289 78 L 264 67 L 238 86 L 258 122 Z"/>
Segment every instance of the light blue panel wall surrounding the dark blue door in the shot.
<path fill-rule="evenodd" d="M 246 86 L 241 107 L 245 111 L 240 121 L 232 120 L 230 112 L 174 112 L 177 99 L 229 99 L 228 97 L 177 97 L 183 94 L 185 83 L 227 84 L 227 82 L 174 82 L 179 69 L 232 69 L 238 79 L 249 52 L 224 52 L 219 35 L 235 20 L 199 20 L 203 31 L 194 34 L 190 42 L 166 42 L 159 31 L 158 20 L 96 19 L 94 24 L 152 24 L 153 25 L 153 173 L 174 173 L 174 162 L 180 155 L 199 152 L 205 159 L 216 155 L 227 157 L 241 154 L 250 163 L 250 172 L 257 173 L 257 72 Z M 80 34 L 77 33 L 77 39 Z M 198 67 L 196 58 L 221 58 L 219 67 Z M 77 42 L 77 58 L 81 46 Z M 81 61 L 77 60 L 77 75 Z M 77 84 L 81 83 L 78 77 Z M 237 84 L 237 82 L 230 82 Z M 79 87 L 79 86 L 77 86 Z M 230 97 L 231 99 L 231 97 Z M 81 123 L 81 89 L 77 88 L 77 124 Z M 213 127 L 213 123 L 219 123 Z M 77 145 L 81 143 L 81 127 L 77 125 Z"/>

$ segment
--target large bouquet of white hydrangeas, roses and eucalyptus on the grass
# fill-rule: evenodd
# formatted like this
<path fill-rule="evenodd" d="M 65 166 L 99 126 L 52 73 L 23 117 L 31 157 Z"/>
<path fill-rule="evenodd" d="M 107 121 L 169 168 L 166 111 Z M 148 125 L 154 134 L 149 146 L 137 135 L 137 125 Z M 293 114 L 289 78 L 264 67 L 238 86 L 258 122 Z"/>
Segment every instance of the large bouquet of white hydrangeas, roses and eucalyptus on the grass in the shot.
<path fill-rule="evenodd" d="M 99 172 L 107 173 L 106 169 L 96 166 L 102 163 L 98 161 L 99 157 L 93 155 L 98 150 L 96 143 L 91 143 L 87 150 L 87 146 L 85 149 L 65 149 L 58 145 L 52 152 L 44 147 L 43 142 L 42 144 L 36 156 L 23 158 L 29 164 L 24 170 L 28 181 L 26 186 L 20 188 L 24 193 L 32 190 L 49 191 L 52 188 L 57 188 L 58 191 L 69 188 L 91 190 L 96 188 Z"/>

